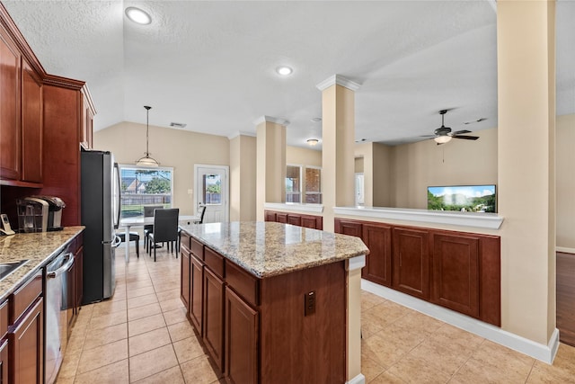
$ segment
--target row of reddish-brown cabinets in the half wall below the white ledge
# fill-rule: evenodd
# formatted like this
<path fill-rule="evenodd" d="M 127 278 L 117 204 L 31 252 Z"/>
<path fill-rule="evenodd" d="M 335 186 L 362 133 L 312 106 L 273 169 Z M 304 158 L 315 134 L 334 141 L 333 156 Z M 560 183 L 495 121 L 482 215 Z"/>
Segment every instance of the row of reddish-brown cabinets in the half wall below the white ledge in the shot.
<path fill-rule="evenodd" d="M 500 237 L 335 219 L 369 248 L 362 278 L 501 325 Z"/>

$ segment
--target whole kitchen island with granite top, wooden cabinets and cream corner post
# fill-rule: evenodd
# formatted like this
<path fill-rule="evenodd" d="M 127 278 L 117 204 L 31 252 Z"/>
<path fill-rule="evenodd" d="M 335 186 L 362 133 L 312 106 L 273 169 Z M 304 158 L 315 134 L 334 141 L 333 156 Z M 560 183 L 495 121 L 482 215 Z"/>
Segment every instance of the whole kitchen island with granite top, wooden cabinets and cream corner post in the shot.
<path fill-rule="evenodd" d="M 274 222 L 181 227 L 181 299 L 237 383 L 363 382 L 358 237 Z"/>

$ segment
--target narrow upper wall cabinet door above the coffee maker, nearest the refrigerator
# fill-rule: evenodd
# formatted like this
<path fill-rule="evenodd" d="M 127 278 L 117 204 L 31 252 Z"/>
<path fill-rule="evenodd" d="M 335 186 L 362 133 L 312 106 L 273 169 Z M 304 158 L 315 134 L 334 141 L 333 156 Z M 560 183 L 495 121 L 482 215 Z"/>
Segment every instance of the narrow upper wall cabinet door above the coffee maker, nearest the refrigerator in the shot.
<path fill-rule="evenodd" d="M 22 181 L 42 182 L 42 84 L 22 60 Z"/>

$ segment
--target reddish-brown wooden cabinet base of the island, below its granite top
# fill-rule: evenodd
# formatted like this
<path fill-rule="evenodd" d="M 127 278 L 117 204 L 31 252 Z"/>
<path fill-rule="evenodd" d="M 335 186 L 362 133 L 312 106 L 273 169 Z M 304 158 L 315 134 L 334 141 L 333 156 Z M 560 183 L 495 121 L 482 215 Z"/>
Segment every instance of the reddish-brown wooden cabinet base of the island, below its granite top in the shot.
<path fill-rule="evenodd" d="M 345 382 L 344 262 L 259 279 L 204 246 L 189 265 L 190 323 L 228 382 Z"/>

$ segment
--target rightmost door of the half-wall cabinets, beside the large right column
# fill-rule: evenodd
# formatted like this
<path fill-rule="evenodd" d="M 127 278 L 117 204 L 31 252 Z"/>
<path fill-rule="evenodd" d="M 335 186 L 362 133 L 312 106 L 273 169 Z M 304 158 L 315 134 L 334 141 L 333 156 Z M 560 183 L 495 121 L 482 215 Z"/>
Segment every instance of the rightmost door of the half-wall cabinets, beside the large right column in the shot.
<path fill-rule="evenodd" d="M 479 239 L 436 233 L 432 240 L 430 301 L 479 317 Z"/>

